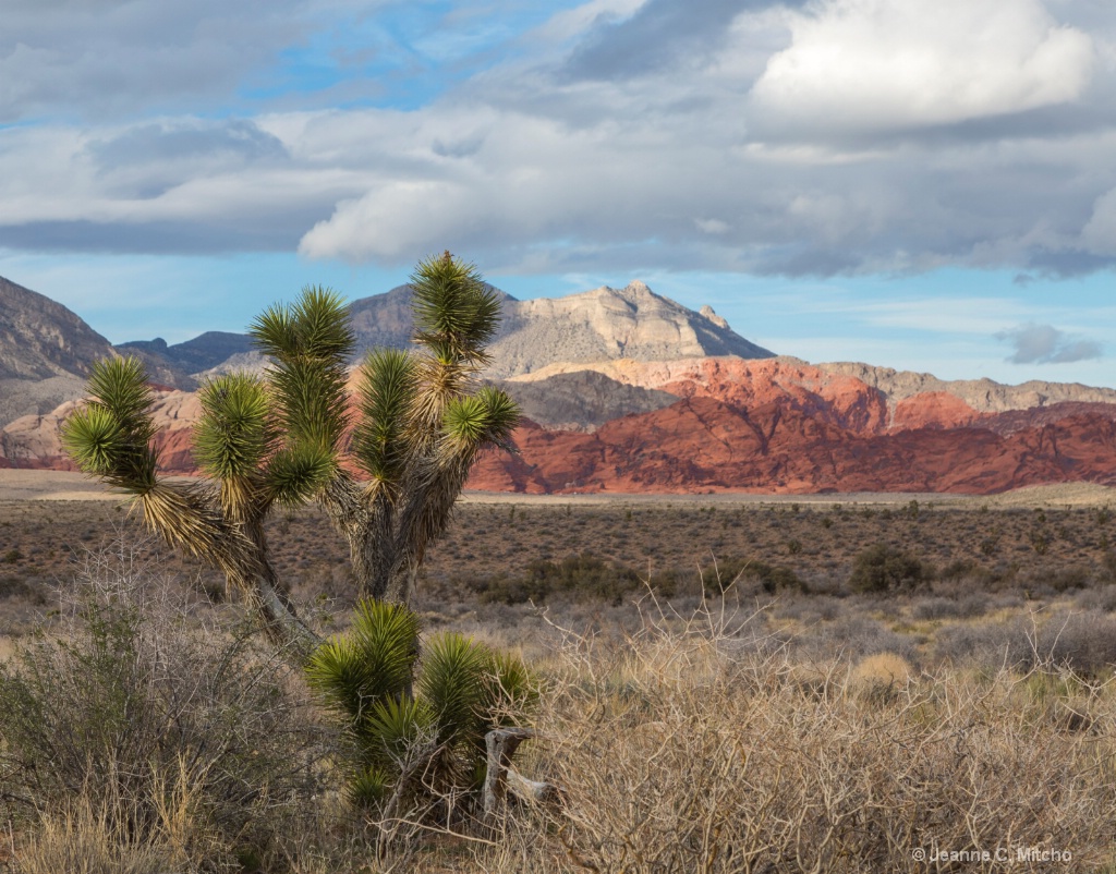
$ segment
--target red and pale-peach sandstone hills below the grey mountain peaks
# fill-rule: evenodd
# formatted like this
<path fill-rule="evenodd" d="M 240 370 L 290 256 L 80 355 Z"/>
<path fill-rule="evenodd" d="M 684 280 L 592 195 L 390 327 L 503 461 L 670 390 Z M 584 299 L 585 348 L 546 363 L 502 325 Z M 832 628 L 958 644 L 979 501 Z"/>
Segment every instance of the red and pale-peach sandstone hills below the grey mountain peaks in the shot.
<path fill-rule="evenodd" d="M 485 454 L 470 487 L 518 492 L 944 491 L 1116 483 L 1116 405 L 978 413 L 945 392 L 897 402 L 852 376 L 786 359 L 616 362 L 607 375 L 680 400 L 595 433 L 525 422 L 519 454 Z M 69 406 L 0 432 L 0 463 L 73 469 L 58 425 Z M 161 393 L 163 467 L 194 470 L 196 396 Z"/>

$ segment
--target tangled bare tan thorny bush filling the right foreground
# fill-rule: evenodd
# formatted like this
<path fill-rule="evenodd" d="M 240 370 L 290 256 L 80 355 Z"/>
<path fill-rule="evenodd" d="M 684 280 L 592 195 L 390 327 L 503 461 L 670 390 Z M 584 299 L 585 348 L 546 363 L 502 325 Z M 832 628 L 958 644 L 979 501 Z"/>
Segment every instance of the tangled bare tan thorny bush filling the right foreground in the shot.
<path fill-rule="evenodd" d="M 561 632 L 523 767 L 564 804 L 509 817 L 475 852 L 484 870 L 950 870 L 912 852 L 936 847 L 992 854 L 966 871 L 1024 871 L 1016 849 L 1032 846 L 1112 864 L 1109 684 L 1050 662 L 865 680 L 791 661 L 725 599 L 689 617 L 644 606 L 620 645 Z"/>

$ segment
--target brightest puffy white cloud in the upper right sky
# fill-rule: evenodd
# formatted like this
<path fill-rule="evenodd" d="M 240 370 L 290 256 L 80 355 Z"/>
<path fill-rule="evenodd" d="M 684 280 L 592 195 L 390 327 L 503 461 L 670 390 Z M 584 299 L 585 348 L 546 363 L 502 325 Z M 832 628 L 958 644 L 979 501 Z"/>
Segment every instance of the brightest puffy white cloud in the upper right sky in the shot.
<path fill-rule="evenodd" d="M 1079 98 L 1090 37 L 1038 0 L 825 0 L 752 89 L 772 125 L 816 131 L 954 124 Z"/>

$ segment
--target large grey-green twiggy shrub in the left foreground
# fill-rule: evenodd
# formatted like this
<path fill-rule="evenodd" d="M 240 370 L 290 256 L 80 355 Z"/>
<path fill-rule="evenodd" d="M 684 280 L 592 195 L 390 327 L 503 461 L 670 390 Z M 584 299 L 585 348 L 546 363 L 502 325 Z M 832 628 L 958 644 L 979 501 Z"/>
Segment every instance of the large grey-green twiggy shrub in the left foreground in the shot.
<path fill-rule="evenodd" d="M 90 556 L 60 624 L 0 664 L 0 805 L 64 855 L 97 829 L 173 844 L 182 870 L 267 854 L 318 789 L 324 736 L 273 647 L 172 603 L 136 556 Z"/>

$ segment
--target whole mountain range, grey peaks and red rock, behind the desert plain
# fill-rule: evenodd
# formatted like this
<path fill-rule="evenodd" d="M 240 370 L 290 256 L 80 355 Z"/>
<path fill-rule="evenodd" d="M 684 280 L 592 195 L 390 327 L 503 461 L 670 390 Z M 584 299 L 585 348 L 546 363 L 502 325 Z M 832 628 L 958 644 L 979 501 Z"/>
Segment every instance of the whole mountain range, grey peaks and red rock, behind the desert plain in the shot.
<path fill-rule="evenodd" d="M 519 402 L 516 454 L 482 459 L 500 491 L 952 491 L 1116 484 L 1116 391 L 942 381 L 868 364 L 809 364 L 633 281 L 562 298 L 499 292 L 484 376 Z M 405 347 L 410 289 L 350 305 L 359 355 Z M 164 467 L 192 472 L 193 390 L 262 369 L 247 335 L 113 347 L 78 316 L 0 279 L 0 467 L 70 469 L 58 440 L 93 362 L 140 356 L 156 387 Z M 357 358 L 359 357 L 356 356 Z"/>

